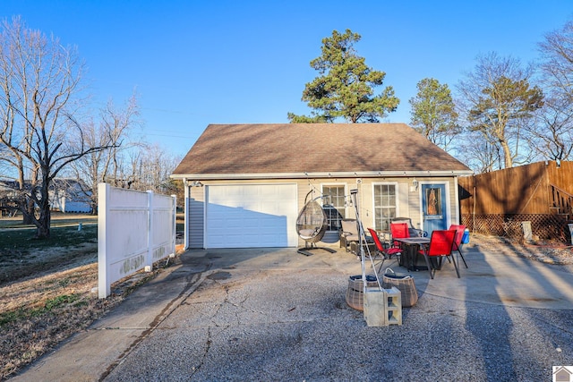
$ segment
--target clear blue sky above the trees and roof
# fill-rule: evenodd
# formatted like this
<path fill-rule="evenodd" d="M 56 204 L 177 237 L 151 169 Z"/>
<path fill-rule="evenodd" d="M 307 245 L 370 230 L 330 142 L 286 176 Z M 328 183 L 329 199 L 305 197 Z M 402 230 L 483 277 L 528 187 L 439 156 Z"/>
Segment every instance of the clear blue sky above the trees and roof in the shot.
<path fill-rule="evenodd" d="M 332 30 L 362 36 L 358 55 L 400 98 L 385 122 L 409 123 L 418 81 L 454 89 L 490 51 L 534 60 L 573 2 L 0 0 L 0 17 L 13 15 L 78 47 L 94 107 L 136 89 L 145 140 L 183 156 L 209 123 L 308 114 L 300 98 L 318 75 L 309 63 Z"/>

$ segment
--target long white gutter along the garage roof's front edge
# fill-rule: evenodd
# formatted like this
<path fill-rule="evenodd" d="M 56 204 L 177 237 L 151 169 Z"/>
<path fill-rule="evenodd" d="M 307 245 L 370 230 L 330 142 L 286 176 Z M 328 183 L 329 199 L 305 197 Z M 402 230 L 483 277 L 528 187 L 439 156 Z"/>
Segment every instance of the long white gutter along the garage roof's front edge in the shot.
<path fill-rule="evenodd" d="M 472 170 L 437 171 L 356 171 L 321 173 L 256 173 L 256 174 L 172 174 L 173 179 L 193 179 L 198 181 L 219 179 L 306 179 L 306 178 L 372 178 L 372 177 L 412 177 L 412 176 L 461 176 L 473 175 Z"/>

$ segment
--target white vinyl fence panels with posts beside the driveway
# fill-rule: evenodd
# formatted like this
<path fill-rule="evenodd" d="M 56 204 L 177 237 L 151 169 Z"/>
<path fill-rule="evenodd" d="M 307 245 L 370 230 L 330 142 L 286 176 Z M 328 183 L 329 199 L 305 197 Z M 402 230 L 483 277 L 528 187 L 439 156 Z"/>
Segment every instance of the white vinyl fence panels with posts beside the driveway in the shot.
<path fill-rule="evenodd" d="M 111 284 L 175 255 L 175 196 L 98 184 L 98 296 Z"/>

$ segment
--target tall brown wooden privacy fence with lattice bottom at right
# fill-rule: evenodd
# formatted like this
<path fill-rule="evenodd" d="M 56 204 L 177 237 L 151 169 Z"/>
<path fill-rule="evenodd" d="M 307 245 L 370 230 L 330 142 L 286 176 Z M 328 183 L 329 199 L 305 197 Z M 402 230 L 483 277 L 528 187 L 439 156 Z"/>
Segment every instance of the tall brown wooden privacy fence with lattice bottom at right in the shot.
<path fill-rule="evenodd" d="M 537 162 L 458 178 L 460 219 L 472 232 L 523 237 L 531 222 L 540 239 L 569 242 L 573 163 Z"/>

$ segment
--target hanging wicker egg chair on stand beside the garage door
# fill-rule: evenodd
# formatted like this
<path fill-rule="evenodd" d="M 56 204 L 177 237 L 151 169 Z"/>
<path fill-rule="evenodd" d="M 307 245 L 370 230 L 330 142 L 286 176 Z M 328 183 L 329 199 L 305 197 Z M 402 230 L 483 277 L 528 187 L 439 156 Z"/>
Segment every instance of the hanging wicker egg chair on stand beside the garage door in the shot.
<path fill-rule="evenodd" d="M 299 248 L 297 251 L 304 256 L 312 256 L 311 250 L 326 250 L 330 253 L 336 253 L 336 250 L 330 248 L 317 247 L 316 242 L 320 242 L 324 237 L 324 233 L 329 226 L 324 210 L 321 205 L 316 201 L 321 199 L 321 197 L 311 199 L 307 202 L 307 199 L 312 191 L 306 194 L 304 198 L 304 208 L 296 218 L 296 233 L 298 236 L 304 240 L 304 248 Z"/>

